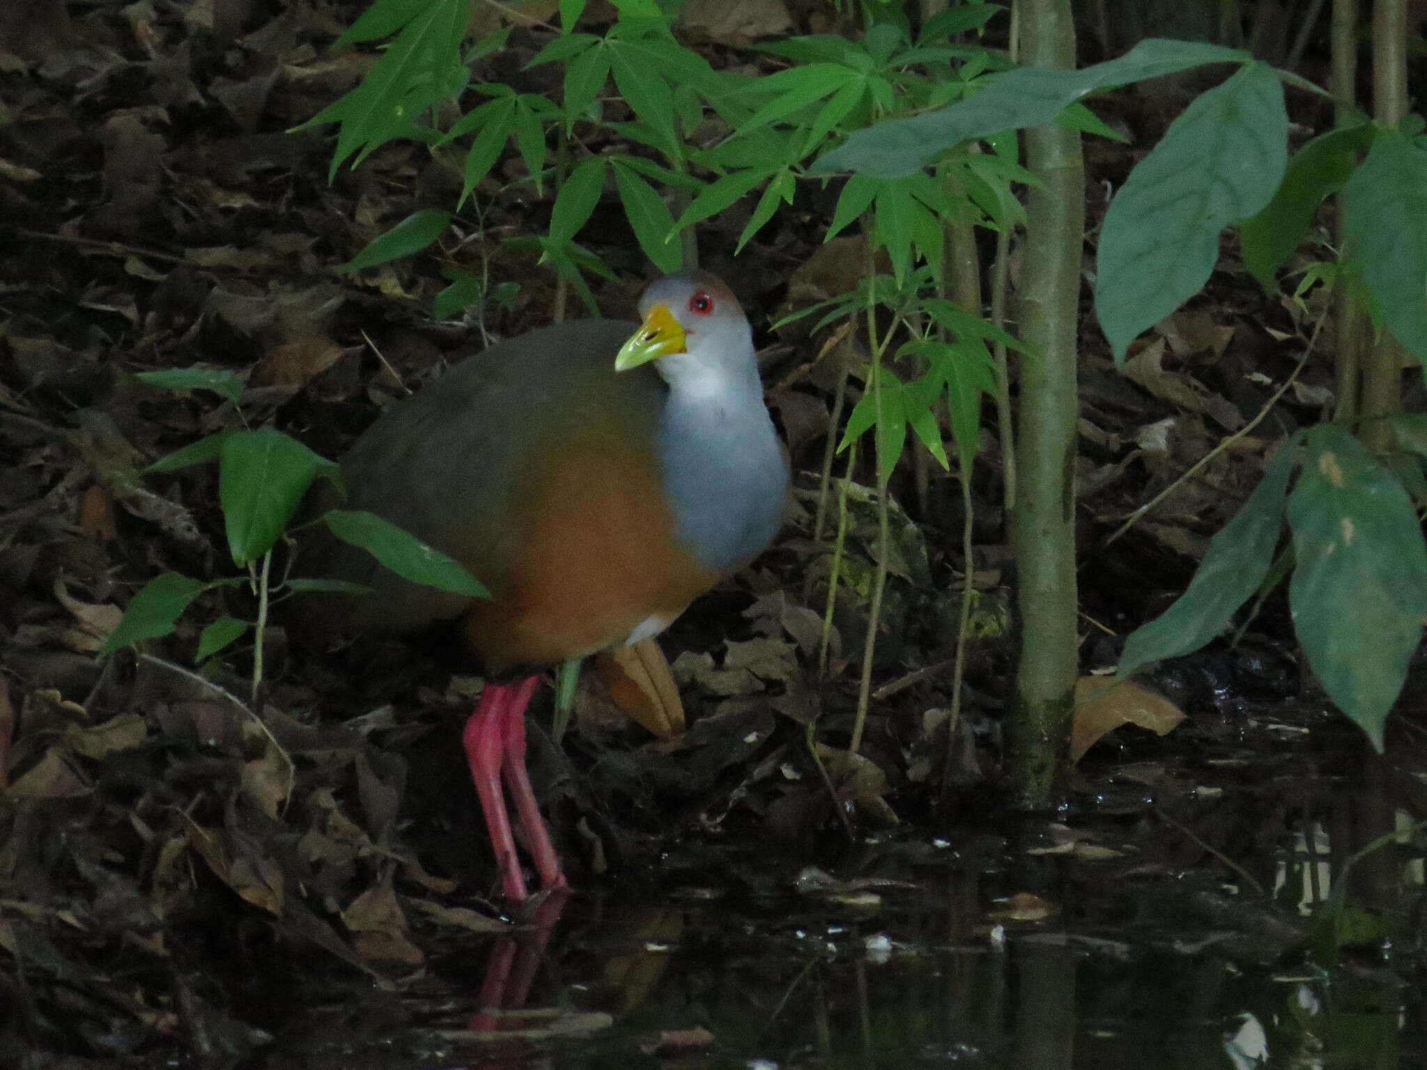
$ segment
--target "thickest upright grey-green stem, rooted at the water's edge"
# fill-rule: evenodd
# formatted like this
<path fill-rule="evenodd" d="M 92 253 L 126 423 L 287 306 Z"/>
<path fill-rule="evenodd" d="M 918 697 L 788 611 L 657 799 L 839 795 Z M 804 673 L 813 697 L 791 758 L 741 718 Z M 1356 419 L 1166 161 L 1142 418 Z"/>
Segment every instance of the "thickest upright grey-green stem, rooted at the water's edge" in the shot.
<path fill-rule="evenodd" d="M 1075 66 L 1070 0 L 1023 0 L 1022 58 Z M 1022 334 L 1036 360 L 1020 367 L 1020 492 L 1016 504 L 1022 618 L 1010 769 L 1023 807 L 1049 807 L 1066 750 L 1076 681 L 1075 428 L 1076 315 L 1085 233 L 1080 137 L 1056 126 L 1026 131 L 1026 165 L 1040 180 L 1027 203 Z"/>

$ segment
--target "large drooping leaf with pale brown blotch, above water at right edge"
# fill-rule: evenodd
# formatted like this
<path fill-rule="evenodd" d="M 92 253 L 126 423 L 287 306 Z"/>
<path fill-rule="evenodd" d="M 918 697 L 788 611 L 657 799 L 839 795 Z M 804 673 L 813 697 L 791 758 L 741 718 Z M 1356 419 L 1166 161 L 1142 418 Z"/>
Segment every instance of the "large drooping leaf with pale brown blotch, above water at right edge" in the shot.
<path fill-rule="evenodd" d="M 1289 496 L 1293 631 L 1323 689 L 1373 745 L 1427 616 L 1427 545 L 1401 484 L 1336 424 L 1304 435 Z"/>

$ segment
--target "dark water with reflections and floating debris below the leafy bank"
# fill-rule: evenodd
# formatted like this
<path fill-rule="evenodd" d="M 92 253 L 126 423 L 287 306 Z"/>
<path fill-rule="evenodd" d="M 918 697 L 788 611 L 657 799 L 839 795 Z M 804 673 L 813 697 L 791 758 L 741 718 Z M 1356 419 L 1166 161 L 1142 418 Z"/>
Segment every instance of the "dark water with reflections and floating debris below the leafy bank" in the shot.
<path fill-rule="evenodd" d="M 1420 739 L 1340 742 L 1260 718 L 1086 765 L 1052 820 L 895 827 L 835 875 L 689 845 L 397 992 L 268 1006 L 248 1064 L 1427 1067 Z"/>

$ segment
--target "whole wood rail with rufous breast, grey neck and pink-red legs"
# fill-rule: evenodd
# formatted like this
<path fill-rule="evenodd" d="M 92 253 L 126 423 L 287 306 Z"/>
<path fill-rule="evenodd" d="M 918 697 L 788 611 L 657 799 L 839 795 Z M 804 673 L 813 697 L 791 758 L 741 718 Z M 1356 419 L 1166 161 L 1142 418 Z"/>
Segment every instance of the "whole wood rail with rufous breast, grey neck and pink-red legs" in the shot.
<path fill-rule="evenodd" d="M 638 327 L 582 320 L 494 345 L 342 458 L 350 508 L 450 554 L 491 599 L 323 544 L 317 569 L 377 593 L 310 596 L 294 621 L 320 639 L 455 622 L 489 681 L 464 743 L 509 899 L 527 886 L 502 776 L 541 885 L 565 883 L 525 772 L 529 673 L 661 632 L 772 541 L 788 494 L 733 291 L 704 271 L 666 275 L 639 314 Z"/>

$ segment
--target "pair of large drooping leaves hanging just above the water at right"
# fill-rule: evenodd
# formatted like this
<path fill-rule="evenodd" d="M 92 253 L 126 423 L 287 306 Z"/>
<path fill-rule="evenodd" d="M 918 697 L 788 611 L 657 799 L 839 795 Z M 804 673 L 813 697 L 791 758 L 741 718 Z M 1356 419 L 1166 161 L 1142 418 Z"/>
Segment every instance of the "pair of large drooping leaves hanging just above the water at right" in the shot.
<path fill-rule="evenodd" d="M 1299 479 L 1286 494 L 1294 467 Z M 1220 633 L 1269 574 L 1284 515 L 1299 643 L 1333 703 L 1381 748 L 1383 723 L 1427 618 L 1427 544 L 1393 469 L 1336 424 L 1280 448 L 1259 488 L 1210 542 L 1189 589 L 1129 638 L 1120 675 Z"/>

